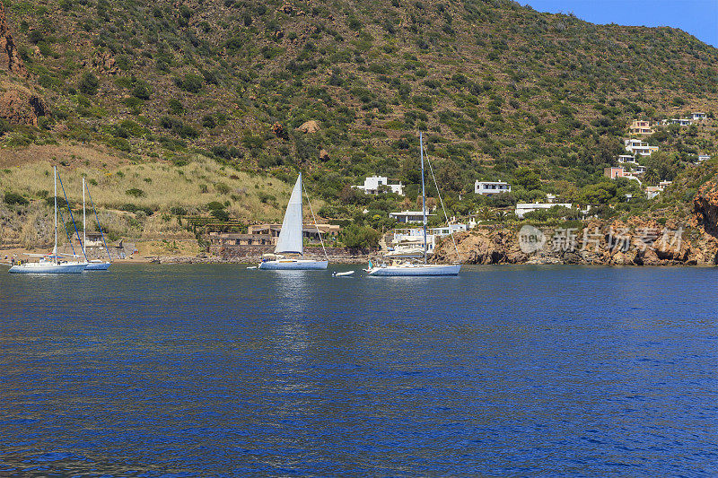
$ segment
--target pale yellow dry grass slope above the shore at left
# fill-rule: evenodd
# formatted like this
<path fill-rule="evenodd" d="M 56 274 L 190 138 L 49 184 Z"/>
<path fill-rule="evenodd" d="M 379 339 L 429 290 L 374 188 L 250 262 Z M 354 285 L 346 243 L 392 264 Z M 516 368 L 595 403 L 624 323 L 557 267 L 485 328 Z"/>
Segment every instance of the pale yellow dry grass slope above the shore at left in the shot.
<path fill-rule="evenodd" d="M 201 156 L 184 166 L 155 162 L 99 169 L 75 162 L 59 167 L 58 171 L 70 202 L 82 203 L 84 175 L 95 204 L 106 209 L 135 204 L 161 213 L 175 206 L 187 209 L 188 213 L 199 213 L 206 209 L 206 204 L 217 201 L 229 203 L 227 209 L 236 218 L 278 221 L 291 192 L 291 187 L 279 179 L 250 175 Z M 34 161 L 0 171 L 2 190 L 39 198 L 44 194 L 52 196 L 52 188 L 50 161 Z M 127 194 L 130 189 L 139 189 L 142 195 L 130 196 Z M 57 196 L 62 196 L 59 184 Z"/>

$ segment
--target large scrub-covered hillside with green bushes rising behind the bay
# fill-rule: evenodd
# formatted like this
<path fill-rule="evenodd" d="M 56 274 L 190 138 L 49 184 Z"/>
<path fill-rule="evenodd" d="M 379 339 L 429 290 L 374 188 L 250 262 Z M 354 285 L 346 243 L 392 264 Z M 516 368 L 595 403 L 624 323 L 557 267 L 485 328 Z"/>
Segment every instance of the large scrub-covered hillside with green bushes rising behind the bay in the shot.
<path fill-rule="evenodd" d="M 283 180 L 301 166 L 313 194 L 328 202 L 324 215 L 362 222 L 358 209 L 414 204 L 417 130 L 427 132 L 454 213 L 486 204 L 459 200 L 477 178 L 511 181 L 513 201 L 547 193 L 618 201 L 635 185 L 595 193 L 634 118 L 709 113 L 697 133 L 654 135 L 666 153 L 649 164 L 656 179 L 676 178 L 698 153 L 718 153 L 718 50 L 681 30 L 593 25 L 502 0 L 4 6 L 17 55 L 0 80 L 39 105 L 11 115 L 0 104 L 4 166 L 55 157 L 111 173 L 206 157 Z M 307 121 L 318 131 L 298 129 Z M 47 157 L 17 160 L 38 146 Z M 370 203 L 347 192 L 375 173 L 404 181 L 409 197 Z M 99 202 L 116 206 L 110 197 L 124 187 L 109 181 Z M 30 188 L 17 192 L 39 198 Z M 691 199 L 680 196 L 681 204 Z M 631 207 L 655 209 L 639 203 Z M 185 204 L 175 197 L 150 205 Z"/>

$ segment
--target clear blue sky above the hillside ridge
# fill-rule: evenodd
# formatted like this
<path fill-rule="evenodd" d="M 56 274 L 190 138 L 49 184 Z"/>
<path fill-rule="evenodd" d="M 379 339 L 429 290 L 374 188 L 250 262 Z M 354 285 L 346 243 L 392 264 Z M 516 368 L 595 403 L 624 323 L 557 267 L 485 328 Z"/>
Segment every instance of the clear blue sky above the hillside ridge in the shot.
<path fill-rule="evenodd" d="M 718 47 L 718 0 L 519 0 L 538 12 L 591 23 L 674 27 Z"/>

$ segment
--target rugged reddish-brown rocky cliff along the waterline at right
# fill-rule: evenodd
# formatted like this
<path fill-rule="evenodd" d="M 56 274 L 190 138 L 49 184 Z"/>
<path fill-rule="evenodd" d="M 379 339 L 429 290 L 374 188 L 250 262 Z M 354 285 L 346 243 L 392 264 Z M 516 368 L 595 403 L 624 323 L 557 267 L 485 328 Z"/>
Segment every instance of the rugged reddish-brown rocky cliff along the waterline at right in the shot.
<path fill-rule="evenodd" d="M 487 226 L 457 235 L 456 241 L 466 264 L 718 264 L 714 236 L 678 222 L 641 218 L 570 227 Z M 433 261 L 456 258 L 451 239 L 446 239 L 435 249 Z"/>

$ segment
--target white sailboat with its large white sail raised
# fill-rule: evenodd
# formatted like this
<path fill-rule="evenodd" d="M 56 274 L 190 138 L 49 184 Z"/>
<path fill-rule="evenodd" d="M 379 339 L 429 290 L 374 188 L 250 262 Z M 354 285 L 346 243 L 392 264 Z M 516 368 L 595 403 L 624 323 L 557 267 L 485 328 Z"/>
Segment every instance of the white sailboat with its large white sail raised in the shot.
<path fill-rule="evenodd" d="M 307 201 L 309 201 L 309 197 L 307 197 Z M 328 259 L 318 261 L 282 256 L 282 254 L 299 254 L 302 257 L 304 255 L 302 212 L 302 173 L 299 173 L 299 178 L 297 178 L 297 182 L 294 184 L 292 190 L 292 196 L 289 198 L 289 204 L 286 206 L 285 219 L 282 222 L 282 230 L 279 231 L 279 238 L 276 240 L 275 253 L 266 255 L 262 259 L 262 262 L 259 263 L 259 269 L 303 271 L 327 268 Z M 314 218 L 313 210 L 311 211 L 311 216 Z M 316 218 L 314 218 L 314 227 L 317 228 L 317 233 L 320 235 L 324 256 L 327 256 L 327 249 L 324 248 L 324 241 L 321 239 Z"/>

